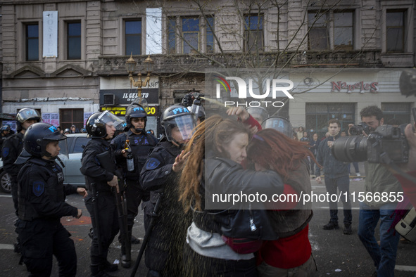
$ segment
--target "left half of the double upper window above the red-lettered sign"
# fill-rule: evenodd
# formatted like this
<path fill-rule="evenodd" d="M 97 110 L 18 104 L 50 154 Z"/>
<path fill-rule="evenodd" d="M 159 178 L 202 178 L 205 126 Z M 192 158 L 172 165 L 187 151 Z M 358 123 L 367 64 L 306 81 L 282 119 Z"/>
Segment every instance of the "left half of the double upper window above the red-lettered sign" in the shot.
<path fill-rule="evenodd" d="M 308 13 L 308 47 L 311 50 L 329 49 L 327 13 Z"/>

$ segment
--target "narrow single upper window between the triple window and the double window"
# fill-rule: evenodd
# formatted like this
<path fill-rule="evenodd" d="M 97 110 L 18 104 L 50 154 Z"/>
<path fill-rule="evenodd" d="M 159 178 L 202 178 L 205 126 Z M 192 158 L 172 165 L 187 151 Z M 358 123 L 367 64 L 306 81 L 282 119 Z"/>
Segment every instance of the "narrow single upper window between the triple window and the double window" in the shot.
<path fill-rule="evenodd" d="M 244 25 L 244 50 L 263 51 L 263 15 L 247 15 Z"/>

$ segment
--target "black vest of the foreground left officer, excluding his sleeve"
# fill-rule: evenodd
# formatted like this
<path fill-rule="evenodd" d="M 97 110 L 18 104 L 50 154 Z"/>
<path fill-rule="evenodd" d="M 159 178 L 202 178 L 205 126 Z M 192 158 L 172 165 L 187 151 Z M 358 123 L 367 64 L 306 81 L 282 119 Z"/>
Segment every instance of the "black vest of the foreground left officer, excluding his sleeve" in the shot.
<path fill-rule="evenodd" d="M 18 216 L 20 219 L 27 221 L 32 221 L 33 219 L 40 217 L 30 202 L 31 198 L 36 197 L 32 195 L 32 180 L 27 178 L 27 173 L 30 170 L 41 172 L 43 177 L 42 179 L 45 181 L 44 195 L 48 195 L 50 200 L 53 202 L 65 201 L 62 168 L 57 165 L 56 162 L 42 160 L 37 157 L 30 159 L 25 165 L 23 165 L 18 175 Z"/>

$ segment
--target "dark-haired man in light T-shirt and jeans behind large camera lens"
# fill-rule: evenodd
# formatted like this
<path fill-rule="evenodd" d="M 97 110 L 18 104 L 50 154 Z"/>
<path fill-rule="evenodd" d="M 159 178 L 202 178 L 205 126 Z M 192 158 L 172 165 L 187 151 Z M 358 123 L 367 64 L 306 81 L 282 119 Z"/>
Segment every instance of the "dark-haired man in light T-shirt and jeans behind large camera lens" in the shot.
<path fill-rule="evenodd" d="M 360 112 L 361 121 L 367 124 L 363 134 L 367 136 L 370 131 L 383 125 L 383 112 L 377 106 L 368 106 Z M 348 133 L 351 131 L 348 130 Z M 367 193 L 397 193 L 401 190 L 401 185 L 393 174 L 387 171 L 380 163 L 365 162 L 365 195 Z M 395 232 L 389 232 L 392 224 L 393 214 L 397 202 L 369 201 L 365 198 L 360 202 L 360 218 L 358 223 L 358 237 L 365 249 L 370 254 L 376 266 L 377 276 L 394 276 L 394 266 L 396 264 L 396 251 L 399 236 Z M 374 229 L 380 221 L 380 245 L 374 237 Z"/>

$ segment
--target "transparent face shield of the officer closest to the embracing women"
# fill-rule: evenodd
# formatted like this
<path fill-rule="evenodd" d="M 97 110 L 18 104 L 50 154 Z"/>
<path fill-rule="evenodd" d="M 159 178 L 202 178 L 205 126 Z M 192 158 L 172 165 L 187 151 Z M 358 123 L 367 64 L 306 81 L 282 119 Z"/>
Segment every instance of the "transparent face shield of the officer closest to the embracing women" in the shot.
<path fill-rule="evenodd" d="M 165 121 L 167 127 L 166 138 L 168 141 L 184 143 L 191 139 L 195 127 L 194 115 L 182 115 Z"/>

